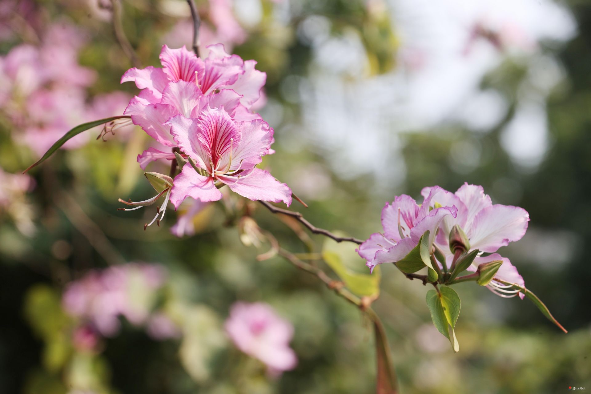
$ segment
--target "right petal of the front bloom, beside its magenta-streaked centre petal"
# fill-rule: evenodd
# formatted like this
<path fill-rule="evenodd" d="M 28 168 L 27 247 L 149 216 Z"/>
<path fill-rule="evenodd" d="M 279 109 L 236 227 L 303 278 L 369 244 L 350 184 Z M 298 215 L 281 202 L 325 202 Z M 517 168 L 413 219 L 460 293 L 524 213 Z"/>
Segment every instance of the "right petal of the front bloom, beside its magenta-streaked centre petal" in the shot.
<path fill-rule="evenodd" d="M 248 170 L 262 161 L 262 156 L 268 154 L 269 146 L 273 142 L 273 129 L 265 121 L 240 122 L 238 127 L 242 134 L 239 144 L 234 145 L 232 167 Z M 242 164 L 241 164 L 242 162 Z"/>

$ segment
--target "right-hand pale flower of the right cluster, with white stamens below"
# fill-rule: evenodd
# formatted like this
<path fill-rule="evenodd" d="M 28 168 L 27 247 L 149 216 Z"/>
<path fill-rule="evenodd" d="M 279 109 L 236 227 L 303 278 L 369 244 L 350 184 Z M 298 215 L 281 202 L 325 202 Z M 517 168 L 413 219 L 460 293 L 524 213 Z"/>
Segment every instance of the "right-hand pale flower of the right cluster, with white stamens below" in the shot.
<path fill-rule="evenodd" d="M 495 278 L 515 283 L 525 287 L 525 282 L 517 272 L 517 268 L 511 264 L 509 259 L 502 257 L 496 252 L 502 246 L 509 245 L 521 239 L 525 235 L 530 215 L 526 210 L 501 204 L 492 204 L 491 197 L 484 193 L 482 186 L 463 184 L 456 193 L 450 193 L 439 186 L 426 187 L 421 191 L 423 196 L 430 195 L 431 201 L 438 201 L 441 204 L 453 203 L 457 207 L 456 217 L 447 217 L 440 226 L 440 231 L 435 239 L 436 244 L 446 255 L 447 266 L 453 261 L 453 253 L 449 248 L 449 234 L 454 225 L 460 226 L 470 242 L 470 250 L 492 253 L 488 256 L 477 256 L 468 268 L 469 271 L 476 271 L 482 263 L 499 261 L 503 263 Z M 488 288 L 501 297 L 520 298 L 525 295 L 515 290 L 506 290 L 506 286 L 493 279 Z"/>

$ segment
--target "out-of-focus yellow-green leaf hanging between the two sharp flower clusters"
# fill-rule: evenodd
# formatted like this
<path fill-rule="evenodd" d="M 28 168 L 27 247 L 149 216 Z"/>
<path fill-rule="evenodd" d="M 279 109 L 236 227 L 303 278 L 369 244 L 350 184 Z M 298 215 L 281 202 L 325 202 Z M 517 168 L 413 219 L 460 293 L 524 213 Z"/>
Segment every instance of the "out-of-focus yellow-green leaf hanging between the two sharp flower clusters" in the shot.
<path fill-rule="evenodd" d="M 364 271 L 366 267 L 355 252 L 355 245 L 352 243 L 326 239 L 322 248 L 322 258 L 345 282 L 345 286 L 356 295 L 372 297 L 379 294 L 381 279 L 379 267 L 374 268 L 374 273 L 371 274 L 356 272 L 353 267 L 359 267 Z"/>

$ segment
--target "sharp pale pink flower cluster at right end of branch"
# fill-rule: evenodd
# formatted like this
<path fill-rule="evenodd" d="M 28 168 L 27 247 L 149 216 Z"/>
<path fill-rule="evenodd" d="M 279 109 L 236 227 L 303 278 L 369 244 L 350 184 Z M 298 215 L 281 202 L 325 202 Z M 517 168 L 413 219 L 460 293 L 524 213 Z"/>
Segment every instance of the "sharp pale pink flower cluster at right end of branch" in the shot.
<path fill-rule="evenodd" d="M 358 249 L 366 259 L 370 270 L 381 263 L 398 262 L 417 246 L 421 236 L 428 230 L 428 245 L 437 246 L 443 253 L 447 266 L 452 266 L 454 245 L 449 236 L 454 226 L 459 226 L 466 236 L 467 250 L 479 250 L 478 256 L 468 271 L 475 272 L 478 266 L 492 261 L 502 261 L 495 279 L 525 287 L 524 280 L 509 259 L 496 251 L 509 242 L 525 235 L 530 216 L 526 210 L 501 204 L 492 204 L 491 197 L 484 193 L 482 186 L 464 184 L 456 193 L 439 186 L 423 188 L 423 203 L 418 205 L 414 198 L 403 194 L 382 209 L 383 233 L 374 233 Z M 487 255 L 483 255 L 487 253 Z M 440 268 L 443 266 L 440 265 Z M 522 292 L 509 289 L 512 286 L 492 280 L 488 288 L 501 297 L 524 298 Z"/>

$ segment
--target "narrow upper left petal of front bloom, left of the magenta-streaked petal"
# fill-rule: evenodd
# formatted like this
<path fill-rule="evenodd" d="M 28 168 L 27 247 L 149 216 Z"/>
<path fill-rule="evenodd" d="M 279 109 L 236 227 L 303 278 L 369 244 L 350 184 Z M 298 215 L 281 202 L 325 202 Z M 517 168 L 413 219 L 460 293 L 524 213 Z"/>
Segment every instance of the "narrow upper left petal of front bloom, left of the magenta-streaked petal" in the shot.
<path fill-rule="evenodd" d="M 166 124 L 171 126 L 170 133 L 178 148 L 189 155 L 200 168 L 209 168 L 209 156 L 197 138 L 199 129 L 197 119 L 187 119 L 183 115 L 177 115 L 168 119 Z"/>

